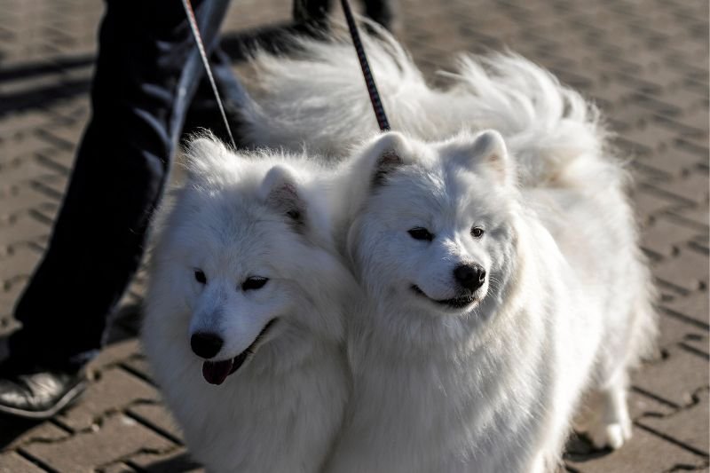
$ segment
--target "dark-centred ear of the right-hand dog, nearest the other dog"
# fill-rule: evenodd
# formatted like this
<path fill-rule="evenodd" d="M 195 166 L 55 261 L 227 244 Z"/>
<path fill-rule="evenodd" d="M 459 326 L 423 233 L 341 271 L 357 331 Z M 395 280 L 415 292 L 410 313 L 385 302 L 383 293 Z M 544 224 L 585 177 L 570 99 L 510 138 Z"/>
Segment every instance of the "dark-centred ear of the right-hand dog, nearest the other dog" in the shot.
<path fill-rule="evenodd" d="M 382 185 L 393 170 L 405 165 L 409 160 L 407 148 L 406 138 L 396 131 L 375 138 L 363 154 L 370 185 Z"/>

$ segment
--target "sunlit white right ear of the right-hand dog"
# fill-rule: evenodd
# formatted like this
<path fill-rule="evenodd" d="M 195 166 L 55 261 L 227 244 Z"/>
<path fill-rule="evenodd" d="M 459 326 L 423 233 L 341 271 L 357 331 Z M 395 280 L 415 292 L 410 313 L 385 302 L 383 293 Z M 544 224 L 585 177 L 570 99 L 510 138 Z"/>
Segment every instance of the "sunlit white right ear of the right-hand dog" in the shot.
<path fill-rule="evenodd" d="M 503 185 L 514 182 L 515 167 L 501 133 L 496 130 L 481 131 L 465 148 L 458 158 L 462 166 L 469 169 L 482 166 Z"/>

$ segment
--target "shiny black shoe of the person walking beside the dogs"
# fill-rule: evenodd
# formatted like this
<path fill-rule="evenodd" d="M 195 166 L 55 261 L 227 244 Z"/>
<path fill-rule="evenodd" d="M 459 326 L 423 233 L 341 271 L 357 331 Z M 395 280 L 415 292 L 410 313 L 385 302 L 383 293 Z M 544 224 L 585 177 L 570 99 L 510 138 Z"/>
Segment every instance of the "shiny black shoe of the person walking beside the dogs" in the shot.
<path fill-rule="evenodd" d="M 86 389 L 83 370 L 28 367 L 5 360 L 0 364 L 0 414 L 49 419 Z"/>

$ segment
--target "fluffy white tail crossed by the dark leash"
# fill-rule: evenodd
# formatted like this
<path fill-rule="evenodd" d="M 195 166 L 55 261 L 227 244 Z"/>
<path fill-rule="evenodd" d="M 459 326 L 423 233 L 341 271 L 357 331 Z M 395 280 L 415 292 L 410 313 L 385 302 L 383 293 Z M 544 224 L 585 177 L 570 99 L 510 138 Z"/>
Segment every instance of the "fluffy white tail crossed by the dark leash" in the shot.
<path fill-rule="evenodd" d="M 373 28 L 376 28 L 373 26 Z M 402 46 L 386 32 L 363 34 L 368 59 L 394 130 L 431 136 L 432 91 Z M 327 41 L 294 38 L 288 57 L 256 51 L 257 107 L 242 111 L 241 133 L 256 146 L 288 147 L 342 157 L 377 132 L 377 122 L 352 44 L 334 26 Z"/>

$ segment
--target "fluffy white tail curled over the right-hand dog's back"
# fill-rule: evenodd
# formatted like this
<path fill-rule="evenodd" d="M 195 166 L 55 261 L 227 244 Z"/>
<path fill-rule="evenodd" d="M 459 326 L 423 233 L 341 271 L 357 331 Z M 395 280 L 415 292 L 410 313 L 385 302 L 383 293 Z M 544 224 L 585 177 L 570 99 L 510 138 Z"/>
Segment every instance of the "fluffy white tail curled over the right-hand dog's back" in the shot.
<path fill-rule="evenodd" d="M 598 185 L 619 176 L 604 158 L 595 106 L 554 75 L 512 53 L 462 56 L 447 91 L 465 103 L 469 126 L 500 130 L 523 185 Z"/>

